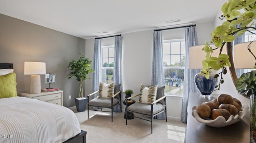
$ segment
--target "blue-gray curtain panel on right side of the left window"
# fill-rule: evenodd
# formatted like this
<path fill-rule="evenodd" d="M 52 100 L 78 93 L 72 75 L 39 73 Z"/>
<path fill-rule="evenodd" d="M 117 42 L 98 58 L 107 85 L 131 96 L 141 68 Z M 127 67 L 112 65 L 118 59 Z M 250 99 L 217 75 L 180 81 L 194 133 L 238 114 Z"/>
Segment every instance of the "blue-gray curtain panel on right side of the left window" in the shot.
<path fill-rule="evenodd" d="M 122 36 L 115 36 L 115 47 L 114 47 L 114 73 L 113 73 L 113 81 L 116 84 L 121 84 L 121 97 L 123 91 L 123 77 L 122 77 Z M 120 102 L 120 101 L 119 101 Z M 122 112 L 121 104 L 114 107 L 114 112 Z"/>

